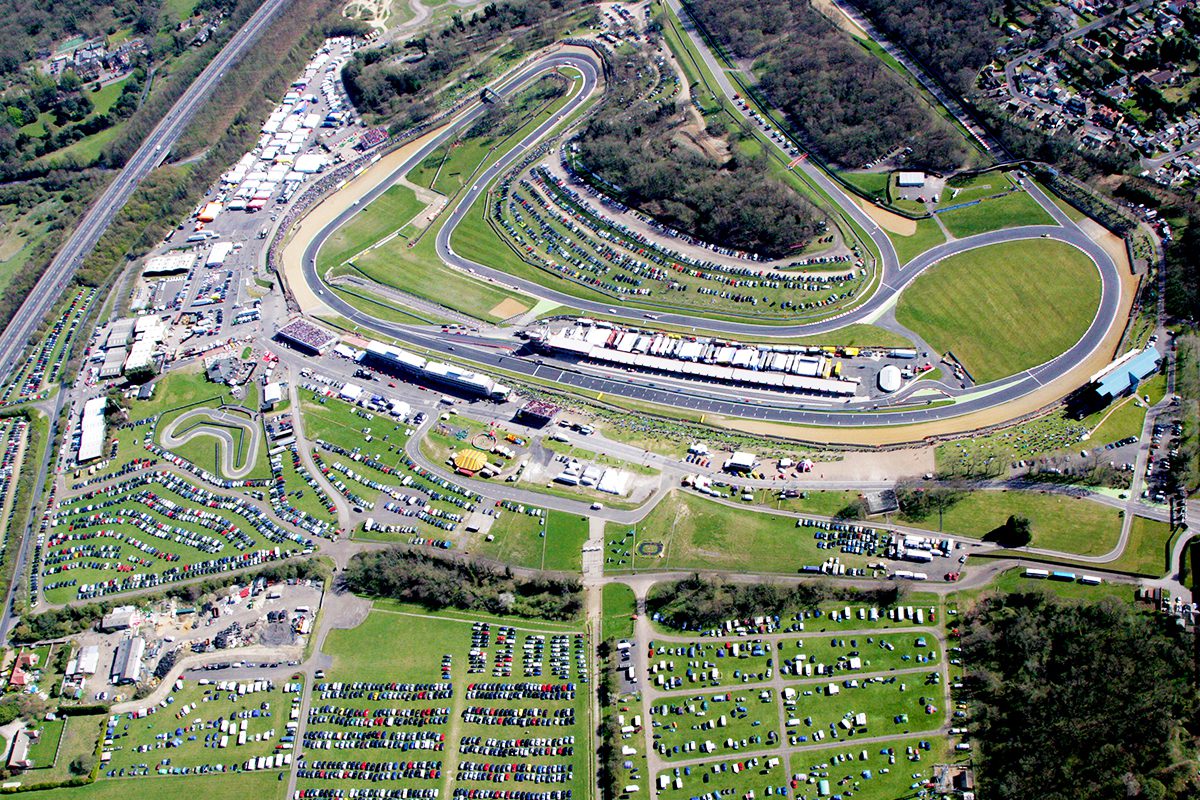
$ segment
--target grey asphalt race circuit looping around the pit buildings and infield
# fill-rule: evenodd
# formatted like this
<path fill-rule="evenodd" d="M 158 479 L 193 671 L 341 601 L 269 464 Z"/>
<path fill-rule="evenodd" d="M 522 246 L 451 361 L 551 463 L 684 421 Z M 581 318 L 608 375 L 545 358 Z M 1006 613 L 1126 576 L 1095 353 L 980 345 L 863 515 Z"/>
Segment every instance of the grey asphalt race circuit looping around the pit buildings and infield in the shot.
<path fill-rule="evenodd" d="M 450 236 L 455 227 L 469 212 L 475 200 L 486 192 L 487 186 L 499 176 L 514 161 L 521 157 L 532 146 L 535 146 L 558 122 L 575 112 L 599 85 L 600 64 L 596 56 L 580 53 L 552 53 L 542 56 L 533 64 L 516 72 L 506 83 L 498 89 L 503 96 L 511 95 L 515 90 L 535 79 L 546 71 L 557 67 L 570 66 L 578 70 L 583 76 L 583 85 L 572 98 L 551 119 L 547 119 L 536 130 L 526 136 L 508 154 L 499 158 L 493 166 L 484 170 L 472 186 L 462 194 L 456 205 L 450 210 L 449 217 L 437 234 L 436 247 L 438 255 L 449 265 L 472 272 L 482 278 L 491 278 L 500 285 L 516 287 L 539 297 L 553 300 L 571 308 L 578 308 L 584 313 L 596 313 L 612 315 L 610 309 L 617 312 L 618 317 L 628 318 L 631 325 L 644 326 L 644 311 L 623 309 L 620 302 L 613 300 L 608 303 L 583 300 L 570 294 L 523 278 L 511 276 L 502 270 L 490 267 L 466 259 L 454 252 L 450 246 Z M 629 397 L 644 402 L 658 403 L 676 408 L 686 408 L 703 414 L 719 414 L 734 417 L 769 420 L 776 422 L 788 422 L 797 425 L 814 426 L 839 426 L 839 427 L 877 427 L 890 425 L 910 425 L 917 422 L 932 422 L 946 420 L 965 414 L 972 414 L 985 409 L 995 408 L 1009 403 L 1019 397 L 1036 391 L 1038 387 L 1052 381 L 1068 372 L 1073 366 L 1087 359 L 1092 351 L 1100 347 L 1106 331 L 1117 321 L 1121 308 L 1121 276 L 1118 266 L 1099 245 L 1093 242 L 1066 213 L 1049 198 L 1042 194 L 1036 187 L 1030 187 L 1030 193 L 1036 200 L 1055 218 L 1057 225 L 1028 225 L 1012 228 L 1007 230 L 995 230 L 950 241 L 922 253 L 916 259 L 905 265 L 899 263 L 895 248 L 887 234 L 880 229 L 866 213 L 833 184 L 818 168 L 804 162 L 803 168 L 809 178 L 818 184 L 838 203 L 842 212 L 852 217 L 875 242 L 881 253 L 880 285 L 878 289 L 864 303 L 852 311 L 829 319 L 798 324 L 798 325 L 758 325 L 751 323 L 733 323 L 714 319 L 698 319 L 683 314 L 661 313 L 656 319 L 661 323 L 694 326 L 701 325 L 704 330 L 727 333 L 733 337 L 791 337 L 806 336 L 811 333 L 826 333 L 851 323 L 871 319 L 874 314 L 886 309 L 895 302 L 896 295 L 917 278 L 923 271 L 938 261 L 967 252 L 977 247 L 985 247 L 1007 241 L 1025 239 L 1054 239 L 1067 245 L 1072 245 L 1088 255 L 1094 261 L 1100 273 L 1100 301 L 1099 308 L 1092 324 L 1069 350 L 1057 357 L 1016 375 L 1004 378 L 991 384 L 976 387 L 966 398 L 950 405 L 926 405 L 908 408 L 904 410 L 887 410 L 881 408 L 872 413 L 864 413 L 862 405 L 858 408 L 846 407 L 838 409 L 829 408 L 799 408 L 798 404 L 808 402 L 797 395 L 778 395 L 773 398 L 745 397 L 737 401 L 706 395 L 707 384 L 695 383 L 691 386 L 660 386 L 654 383 L 653 375 L 636 374 L 629 378 L 601 377 L 577 372 L 568 362 L 553 359 L 532 360 L 510 355 L 499 343 L 494 341 L 470 338 L 457 335 L 445 335 L 431 332 L 428 329 L 420 329 L 401 325 L 378 319 L 366 314 L 349 305 L 334 293 L 328 291 L 317 273 L 317 253 L 324 241 L 332 233 L 346 224 L 355 213 L 366 207 L 372 200 L 383 194 L 396 180 L 407 174 L 421 161 L 427 158 L 438 146 L 460 132 L 470 127 L 470 124 L 486 110 L 486 106 L 476 103 L 466 110 L 451 125 L 443 128 L 436 137 L 413 154 L 404 163 L 397 167 L 391 175 L 383 180 L 377 187 L 362 197 L 359 203 L 343 210 L 336 218 L 331 219 L 322 228 L 311 241 L 307 242 L 302 255 L 302 275 L 305 282 L 312 291 L 326 306 L 336 311 L 342 317 L 385 336 L 422 347 L 428 350 L 443 353 L 469 360 L 481 368 L 498 367 L 509 372 L 518 373 L 539 380 L 559 383 L 581 390 L 589 390 Z"/>

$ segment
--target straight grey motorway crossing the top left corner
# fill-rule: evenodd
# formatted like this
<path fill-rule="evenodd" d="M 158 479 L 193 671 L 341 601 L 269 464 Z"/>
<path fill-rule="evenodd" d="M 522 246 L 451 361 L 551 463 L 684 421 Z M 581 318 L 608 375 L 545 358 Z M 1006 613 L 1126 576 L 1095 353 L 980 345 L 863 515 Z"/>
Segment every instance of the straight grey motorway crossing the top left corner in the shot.
<path fill-rule="evenodd" d="M 145 138 L 133 157 L 126 162 L 120 174 L 84 211 L 66 245 L 50 261 L 12 321 L 0 333 L 0 373 L 11 372 L 16 367 L 29 337 L 37 330 L 50 307 L 58 302 L 76 270 L 83 263 L 84 255 L 96 246 L 101 235 L 128 201 L 142 180 L 167 157 L 170 148 L 196 116 L 196 112 L 208 100 L 209 92 L 224 76 L 226 70 L 246 54 L 271 20 L 290 1 L 263 0 L 263 5 L 233 35 L 216 58 L 175 101 L 167 115 L 158 121 L 158 125 Z"/>

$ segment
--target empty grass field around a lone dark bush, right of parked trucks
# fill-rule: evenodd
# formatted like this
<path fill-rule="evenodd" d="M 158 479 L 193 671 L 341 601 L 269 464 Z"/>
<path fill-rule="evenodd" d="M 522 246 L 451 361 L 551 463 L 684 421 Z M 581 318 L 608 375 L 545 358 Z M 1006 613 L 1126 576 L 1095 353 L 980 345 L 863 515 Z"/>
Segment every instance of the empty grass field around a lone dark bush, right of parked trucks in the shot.
<path fill-rule="evenodd" d="M 949 535 L 982 539 L 998 528 L 1009 515 L 1028 517 L 1033 524 L 1032 547 L 1075 555 L 1103 555 L 1121 535 L 1117 509 L 1064 494 L 1037 492 L 968 492 L 942 516 L 942 530 Z M 937 515 L 918 522 L 901 522 L 914 528 L 937 530 Z"/>

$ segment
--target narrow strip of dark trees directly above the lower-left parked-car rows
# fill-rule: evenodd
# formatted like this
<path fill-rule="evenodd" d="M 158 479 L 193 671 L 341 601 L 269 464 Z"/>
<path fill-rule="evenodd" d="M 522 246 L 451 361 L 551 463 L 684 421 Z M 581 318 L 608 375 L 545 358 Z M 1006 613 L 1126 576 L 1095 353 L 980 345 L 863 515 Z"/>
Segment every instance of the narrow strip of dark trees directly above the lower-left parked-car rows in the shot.
<path fill-rule="evenodd" d="M 358 553 L 341 575 L 346 589 L 434 610 L 457 608 L 533 619 L 574 620 L 583 610 L 576 578 L 522 578 L 511 570 L 391 547 Z"/>

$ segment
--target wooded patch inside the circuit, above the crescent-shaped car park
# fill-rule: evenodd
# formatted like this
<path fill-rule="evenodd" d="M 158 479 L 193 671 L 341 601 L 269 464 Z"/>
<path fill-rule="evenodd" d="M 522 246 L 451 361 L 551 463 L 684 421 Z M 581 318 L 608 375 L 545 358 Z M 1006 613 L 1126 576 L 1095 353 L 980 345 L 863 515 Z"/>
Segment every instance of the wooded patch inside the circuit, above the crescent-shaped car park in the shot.
<path fill-rule="evenodd" d="M 656 67 L 644 55 L 611 61 L 608 91 L 572 139 L 584 178 L 599 178 L 606 194 L 672 228 L 769 258 L 787 255 L 823 230 L 821 211 L 772 175 L 766 156 L 730 148 L 714 124 L 692 136 L 728 149 L 730 156 L 718 160 L 689 138 L 688 110 L 674 101 L 647 100 L 642 76 Z"/>

